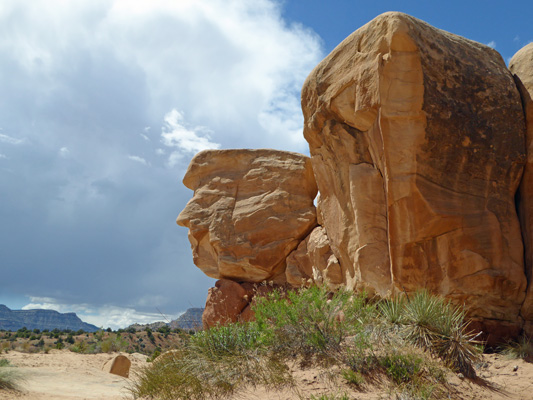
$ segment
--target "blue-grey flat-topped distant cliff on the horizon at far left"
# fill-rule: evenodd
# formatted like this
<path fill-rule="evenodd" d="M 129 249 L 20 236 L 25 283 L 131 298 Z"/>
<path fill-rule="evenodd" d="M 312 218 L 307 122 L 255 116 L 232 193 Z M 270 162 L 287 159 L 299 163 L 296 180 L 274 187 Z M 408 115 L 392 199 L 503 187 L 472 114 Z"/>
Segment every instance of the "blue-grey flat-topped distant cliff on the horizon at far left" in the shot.
<path fill-rule="evenodd" d="M 95 332 L 97 326 L 83 322 L 75 313 L 61 314 L 54 310 L 11 310 L 0 304 L 0 329 L 16 331 L 20 328 L 28 329 L 83 329 L 86 332 Z"/>

